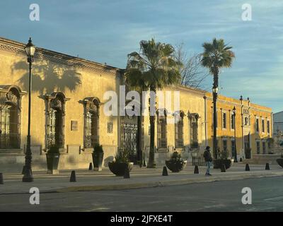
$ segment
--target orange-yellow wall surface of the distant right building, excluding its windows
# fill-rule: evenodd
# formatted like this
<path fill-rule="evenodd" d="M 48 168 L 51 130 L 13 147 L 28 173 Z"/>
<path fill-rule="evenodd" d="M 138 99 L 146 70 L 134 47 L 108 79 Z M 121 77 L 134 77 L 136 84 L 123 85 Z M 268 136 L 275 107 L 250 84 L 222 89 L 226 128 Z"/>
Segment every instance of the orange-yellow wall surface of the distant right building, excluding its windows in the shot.
<path fill-rule="evenodd" d="M 224 97 L 219 95 L 217 102 L 217 138 L 219 142 L 219 148 L 223 150 L 222 139 L 227 138 L 228 150 L 231 152 L 231 139 L 234 137 L 234 130 L 231 129 L 231 115 L 233 114 L 233 107 L 236 107 L 236 148 L 238 155 L 242 156 L 243 154 L 243 135 L 250 133 L 250 148 L 252 149 L 252 153 L 256 154 L 256 139 L 259 139 L 260 143 L 261 139 L 267 139 L 272 137 L 272 109 L 268 107 L 262 107 L 260 105 L 255 105 L 251 103 L 249 100 L 236 100 L 231 97 Z M 213 146 L 213 102 L 212 102 L 212 94 L 207 93 L 207 119 L 208 119 L 208 139 L 209 145 Z M 248 114 L 243 114 L 243 109 L 249 109 Z M 222 119 L 221 119 L 221 111 L 226 112 L 227 121 L 226 121 L 226 129 L 222 128 Z M 244 124 L 244 117 L 249 117 L 250 125 Z M 260 132 L 257 133 L 255 131 L 255 116 L 265 118 L 265 133 L 262 133 L 262 124 L 260 120 Z M 260 118 L 261 119 L 261 118 Z M 270 133 L 267 133 L 267 120 L 270 121 Z M 268 152 L 268 150 L 267 150 Z M 261 143 L 261 153 L 262 153 L 262 143 Z"/>

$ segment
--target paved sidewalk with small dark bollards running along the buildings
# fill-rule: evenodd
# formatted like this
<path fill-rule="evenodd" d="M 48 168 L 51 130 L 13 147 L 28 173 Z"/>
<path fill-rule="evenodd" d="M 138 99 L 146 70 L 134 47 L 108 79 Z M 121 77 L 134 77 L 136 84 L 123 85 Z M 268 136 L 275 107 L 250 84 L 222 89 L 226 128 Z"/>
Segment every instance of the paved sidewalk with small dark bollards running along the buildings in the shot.
<path fill-rule="evenodd" d="M 265 165 L 250 165 L 250 172 L 246 172 L 243 163 L 234 163 L 231 169 L 227 169 L 226 172 L 212 169 L 212 177 L 204 176 L 205 167 L 199 167 L 199 170 L 200 174 L 194 174 L 194 167 L 188 165 L 179 173 L 172 173 L 168 170 L 168 177 L 163 177 L 161 176 L 162 168 L 147 169 L 134 166 L 130 172 L 131 178 L 124 179 L 116 177 L 108 168 L 103 169 L 102 172 L 77 169 L 76 182 L 69 182 L 71 170 L 61 170 L 57 175 L 41 171 L 33 172 L 33 183 L 23 183 L 21 182 L 22 174 L 11 173 L 4 174 L 4 184 L 0 184 L 0 196 L 3 194 L 25 194 L 29 192 L 31 187 L 37 187 L 40 189 L 40 193 L 98 191 L 283 176 L 283 168 L 279 165 L 270 165 L 270 170 L 265 170 Z"/>

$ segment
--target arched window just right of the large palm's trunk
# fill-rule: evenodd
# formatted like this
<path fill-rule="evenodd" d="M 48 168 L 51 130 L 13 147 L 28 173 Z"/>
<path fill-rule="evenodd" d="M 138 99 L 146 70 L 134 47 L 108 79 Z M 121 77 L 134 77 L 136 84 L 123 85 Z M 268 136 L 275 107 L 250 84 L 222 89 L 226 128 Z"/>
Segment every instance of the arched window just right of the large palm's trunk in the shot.
<path fill-rule="evenodd" d="M 166 109 L 157 110 L 157 139 L 158 139 L 158 148 L 167 148 L 167 112 L 166 112 Z"/>

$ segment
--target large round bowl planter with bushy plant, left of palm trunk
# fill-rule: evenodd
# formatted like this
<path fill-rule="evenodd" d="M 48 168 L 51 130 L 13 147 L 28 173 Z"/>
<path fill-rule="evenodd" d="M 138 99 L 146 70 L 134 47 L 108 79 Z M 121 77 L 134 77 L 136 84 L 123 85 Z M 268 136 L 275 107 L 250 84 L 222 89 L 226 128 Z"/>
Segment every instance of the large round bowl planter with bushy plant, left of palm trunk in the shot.
<path fill-rule="evenodd" d="M 112 162 L 108 162 L 110 171 L 116 176 L 122 177 L 125 174 L 125 169 L 132 170 L 134 163 L 129 160 L 129 151 L 120 149 L 115 155 L 115 159 Z"/>

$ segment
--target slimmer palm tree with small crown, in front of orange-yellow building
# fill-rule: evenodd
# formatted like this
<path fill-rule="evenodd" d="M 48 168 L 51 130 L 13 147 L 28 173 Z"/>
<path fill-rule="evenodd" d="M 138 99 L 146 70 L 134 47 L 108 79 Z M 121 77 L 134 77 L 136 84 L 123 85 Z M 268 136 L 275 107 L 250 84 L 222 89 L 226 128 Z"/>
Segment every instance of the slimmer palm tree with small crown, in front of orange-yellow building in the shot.
<path fill-rule="evenodd" d="M 227 46 L 223 39 L 216 40 L 214 38 L 212 42 L 204 42 L 202 44 L 204 52 L 202 54 L 202 66 L 209 69 L 209 72 L 213 75 L 213 105 L 214 105 L 214 132 L 213 132 L 213 151 L 214 157 L 217 158 L 217 139 L 216 139 L 216 100 L 218 90 L 218 78 L 219 69 L 229 68 L 232 66 L 233 58 L 235 54 L 230 50 L 232 47 Z"/>

